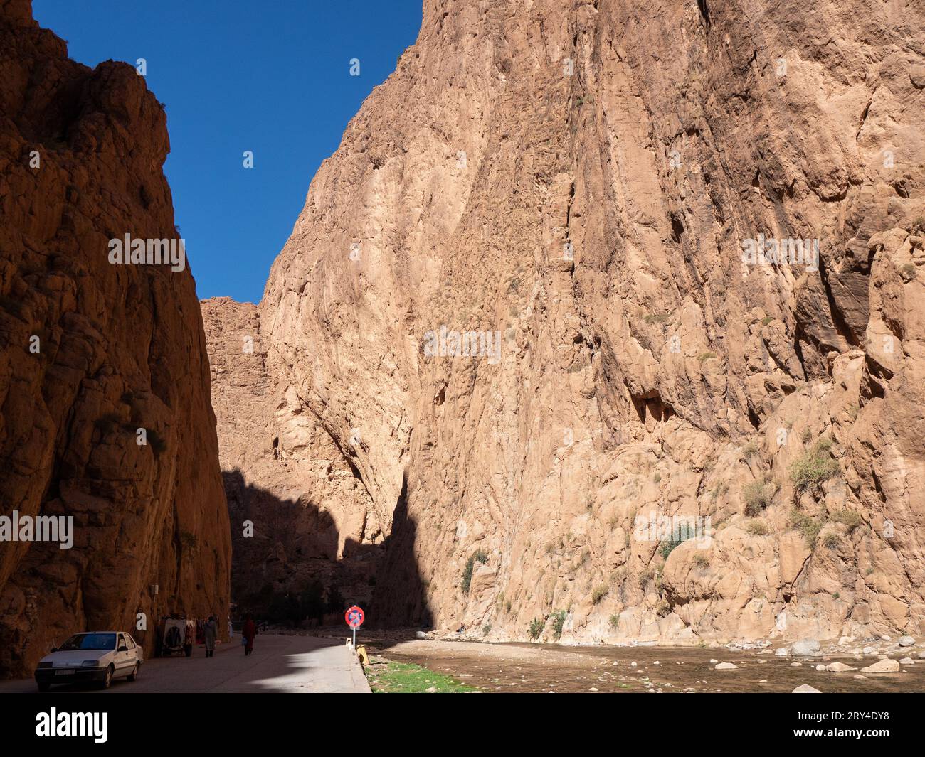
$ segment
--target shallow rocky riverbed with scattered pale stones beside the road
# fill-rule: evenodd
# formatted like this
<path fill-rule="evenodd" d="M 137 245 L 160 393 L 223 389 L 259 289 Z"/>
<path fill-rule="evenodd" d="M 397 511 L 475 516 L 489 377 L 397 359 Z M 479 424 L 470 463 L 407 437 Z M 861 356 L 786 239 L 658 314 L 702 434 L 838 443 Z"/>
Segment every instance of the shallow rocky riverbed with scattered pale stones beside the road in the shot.
<path fill-rule="evenodd" d="M 424 665 L 486 692 L 790 692 L 801 686 L 827 693 L 925 691 L 925 643 L 911 637 L 902 643 L 908 641 L 702 648 L 378 639 L 366 646 L 374 659 Z"/>

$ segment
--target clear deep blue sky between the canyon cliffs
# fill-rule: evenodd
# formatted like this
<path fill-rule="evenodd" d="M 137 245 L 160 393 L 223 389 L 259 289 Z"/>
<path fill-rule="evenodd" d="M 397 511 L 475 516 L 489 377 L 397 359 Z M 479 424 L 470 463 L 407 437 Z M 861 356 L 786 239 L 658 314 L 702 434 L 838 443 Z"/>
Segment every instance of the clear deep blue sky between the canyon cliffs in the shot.
<path fill-rule="evenodd" d="M 421 27 L 422 0 L 34 0 L 87 66 L 147 60 L 200 298 L 257 302 L 308 185 Z M 350 76 L 351 58 L 360 76 Z M 241 153 L 253 150 L 254 167 Z"/>

